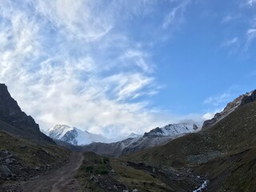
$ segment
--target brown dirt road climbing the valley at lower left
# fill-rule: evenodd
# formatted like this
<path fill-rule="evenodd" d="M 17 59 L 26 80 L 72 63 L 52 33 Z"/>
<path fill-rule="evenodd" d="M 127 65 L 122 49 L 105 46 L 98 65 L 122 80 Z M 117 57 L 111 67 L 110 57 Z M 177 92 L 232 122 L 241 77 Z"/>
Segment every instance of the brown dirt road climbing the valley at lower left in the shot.
<path fill-rule="evenodd" d="M 65 192 L 78 191 L 78 181 L 74 178 L 82 164 L 82 154 L 73 153 L 70 162 L 58 170 L 51 171 L 28 182 L 21 182 L 10 191 L 16 192 Z"/>

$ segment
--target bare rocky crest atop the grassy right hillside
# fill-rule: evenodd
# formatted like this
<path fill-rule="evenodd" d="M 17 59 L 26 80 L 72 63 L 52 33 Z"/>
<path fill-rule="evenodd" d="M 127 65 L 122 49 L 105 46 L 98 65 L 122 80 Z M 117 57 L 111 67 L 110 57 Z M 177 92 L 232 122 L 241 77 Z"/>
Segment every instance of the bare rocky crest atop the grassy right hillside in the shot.
<path fill-rule="evenodd" d="M 256 90 L 251 91 L 250 93 L 242 94 L 238 98 L 235 98 L 233 102 L 230 102 L 226 105 L 225 109 L 222 112 L 214 115 L 214 118 L 207 120 L 203 123 L 202 129 L 209 128 L 213 126 L 216 122 L 225 118 L 228 114 L 232 113 L 240 106 L 244 106 L 247 103 L 256 101 Z"/>

